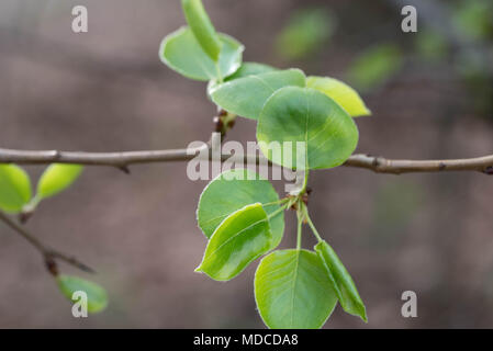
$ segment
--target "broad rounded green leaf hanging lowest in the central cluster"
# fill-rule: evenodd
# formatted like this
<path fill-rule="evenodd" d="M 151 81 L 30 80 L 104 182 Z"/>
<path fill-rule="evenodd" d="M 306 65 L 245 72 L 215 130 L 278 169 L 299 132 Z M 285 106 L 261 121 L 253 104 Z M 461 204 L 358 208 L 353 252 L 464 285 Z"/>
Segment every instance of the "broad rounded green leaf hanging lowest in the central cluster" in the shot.
<path fill-rule="evenodd" d="M 265 257 L 255 273 L 255 299 L 264 322 L 274 329 L 321 328 L 337 304 L 324 263 L 306 250 Z"/>

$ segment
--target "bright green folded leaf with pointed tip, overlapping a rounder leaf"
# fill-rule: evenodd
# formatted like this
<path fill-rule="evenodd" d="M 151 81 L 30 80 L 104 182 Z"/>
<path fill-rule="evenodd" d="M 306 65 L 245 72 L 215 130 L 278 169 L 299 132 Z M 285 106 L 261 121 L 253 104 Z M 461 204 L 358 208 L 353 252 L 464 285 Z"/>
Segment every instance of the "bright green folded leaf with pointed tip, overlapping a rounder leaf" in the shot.
<path fill-rule="evenodd" d="M 262 205 L 248 205 L 221 223 L 195 271 L 204 272 L 216 281 L 228 281 L 266 253 L 271 241 L 269 219 Z"/>

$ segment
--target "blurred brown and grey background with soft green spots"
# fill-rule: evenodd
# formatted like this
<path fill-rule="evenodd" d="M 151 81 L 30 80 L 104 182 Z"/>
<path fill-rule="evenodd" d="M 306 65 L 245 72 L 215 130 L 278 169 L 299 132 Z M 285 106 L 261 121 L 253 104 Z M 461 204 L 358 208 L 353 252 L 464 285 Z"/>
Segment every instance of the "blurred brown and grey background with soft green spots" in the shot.
<path fill-rule="evenodd" d="M 89 33 L 71 31 L 72 7 Z M 339 78 L 363 95 L 359 152 L 461 158 L 493 150 L 493 3 L 470 1 L 205 0 L 245 60 Z M 415 4 L 418 32 L 401 31 Z M 208 140 L 205 84 L 164 66 L 178 0 L 2 0 L 0 147 L 116 151 Z M 255 140 L 239 120 L 228 139 Z M 262 328 L 253 264 L 228 283 L 193 272 L 206 241 L 195 206 L 206 182 L 184 162 L 87 168 L 43 202 L 27 228 L 98 270 L 109 308 L 71 316 L 41 257 L 0 224 L 1 328 Z M 27 167 L 35 179 L 43 167 Z M 282 183 L 277 184 L 282 190 Z M 337 307 L 326 328 L 493 327 L 493 178 L 383 176 L 339 168 L 311 177 L 313 219 L 352 274 L 369 324 Z M 295 242 L 288 214 L 282 247 Z M 306 230 L 304 246 L 313 241 Z M 63 267 L 64 272 L 74 272 Z M 79 274 L 78 272 L 76 272 Z M 418 317 L 401 316 L 417 294 Z"/>

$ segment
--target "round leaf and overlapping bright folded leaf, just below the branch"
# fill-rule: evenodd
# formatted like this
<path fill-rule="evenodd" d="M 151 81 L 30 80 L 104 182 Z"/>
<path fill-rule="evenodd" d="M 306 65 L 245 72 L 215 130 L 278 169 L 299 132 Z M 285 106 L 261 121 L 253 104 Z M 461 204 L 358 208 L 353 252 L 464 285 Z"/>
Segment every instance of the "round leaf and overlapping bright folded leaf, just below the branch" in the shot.
<path fill-rule="evenodd" d="M 198 271 L 227 281 L 276 248 L 284 231 L 279 204 L 272 185 L 253 171 L 232 170 L 213 180 L 199 201 L 199 226 L 210 240 Z"/>

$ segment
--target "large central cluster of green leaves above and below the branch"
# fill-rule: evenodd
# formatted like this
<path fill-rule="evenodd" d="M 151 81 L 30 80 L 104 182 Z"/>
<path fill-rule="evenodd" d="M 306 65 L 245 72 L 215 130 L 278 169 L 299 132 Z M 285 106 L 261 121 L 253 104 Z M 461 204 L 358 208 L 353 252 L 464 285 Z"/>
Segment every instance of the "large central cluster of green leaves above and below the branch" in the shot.
<path fill-rule="evenodd" d="M 303 188 L 284 199 L 246 169 L 214 179 L 199 201 L 198 222 L 209 242 L 197 271 L 228 281 L 270 252 L 255 274 L 256 303 L 268 327 L 320 328 L 337 302 L 366 321 L 355 283 L 309 216 L 305 193 L 310 170 L 340 166 L 354 152 L 358 128 L 352 117 L 370 111 L 352 88 L 336 79 L 243 63 L 244 46 L 215 31 L 200 0 L 182 0 L 182 7 L 188 26 L 165 37 L 161 60 L 184 77 L 209 81 L 208 95 L 219 107 L 258 122 L 257 140 L 267 158 L 282 167 L 298 165 L 305 173 Z M 269 151 L 270 143 L 284 141 L 304 143 L 301 166 L 295 155 L 285 160 Z M 274 251 L 289 208 L 298 214 L 298 246 Z M 318 240 L 313 251 L 301 248 L 303 224 Z"/>

